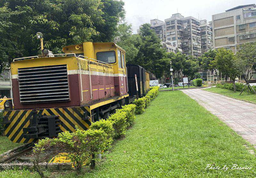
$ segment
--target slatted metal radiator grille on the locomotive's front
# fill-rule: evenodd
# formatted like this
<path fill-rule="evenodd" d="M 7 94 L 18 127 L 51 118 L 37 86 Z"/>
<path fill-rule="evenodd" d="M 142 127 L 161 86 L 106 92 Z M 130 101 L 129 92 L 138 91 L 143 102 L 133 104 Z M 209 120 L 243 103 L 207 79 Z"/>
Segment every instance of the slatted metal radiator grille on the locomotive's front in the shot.
<path fill-rule="evenodd" d="M 20 103 L 69 101 L 67 65 L 18 69 Z"/>

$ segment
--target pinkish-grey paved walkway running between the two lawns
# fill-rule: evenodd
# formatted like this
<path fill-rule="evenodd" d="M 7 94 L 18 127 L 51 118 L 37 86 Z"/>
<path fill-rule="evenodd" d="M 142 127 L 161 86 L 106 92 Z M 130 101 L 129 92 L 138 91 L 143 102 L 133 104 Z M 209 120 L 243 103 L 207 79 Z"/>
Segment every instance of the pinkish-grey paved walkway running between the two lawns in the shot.
<path fill-rule="evenodd" d="M 219 117 L 237 134 L 256 145 L 256 104 L 201 89 L 182 91 Z"/>

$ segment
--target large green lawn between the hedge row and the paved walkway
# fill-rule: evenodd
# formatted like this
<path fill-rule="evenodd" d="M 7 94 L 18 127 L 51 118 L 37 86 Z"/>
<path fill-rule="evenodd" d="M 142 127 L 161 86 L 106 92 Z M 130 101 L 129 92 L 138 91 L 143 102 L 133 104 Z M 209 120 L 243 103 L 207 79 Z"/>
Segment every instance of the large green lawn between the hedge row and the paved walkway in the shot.
<path fill-rule="evenodd" d="M 160 92 L 96 169 L 80 177 L 255 177 L 256 158 L 244 144 L 253 149 L 183 92 Z M 207 164 L 229 169 L 205 170 Z M 252 169 L 231 170 L 233 164 Z M 0 177 L 7 174 L 18 177 L 17 171 Z M 76 177 L 75 172 L 59 174 Z"/>

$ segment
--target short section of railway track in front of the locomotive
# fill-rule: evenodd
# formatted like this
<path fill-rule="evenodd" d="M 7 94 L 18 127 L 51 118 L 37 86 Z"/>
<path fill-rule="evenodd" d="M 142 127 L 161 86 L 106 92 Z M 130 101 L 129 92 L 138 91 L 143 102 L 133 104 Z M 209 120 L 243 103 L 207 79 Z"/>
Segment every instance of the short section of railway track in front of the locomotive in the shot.
<path fill-rule="evenodd" d="M 18 148 L 15 148 L 12 151 L 8 151 L 9 154 L 6 154 L 5 156 L 3 156 L 3 158 L 0 160 L 0 163 L 10 163 L 16 158 L 32 151 L 33 147 L 34 147 L 34 144 L 30 143 L 30 144 L 26 144 Z"/>

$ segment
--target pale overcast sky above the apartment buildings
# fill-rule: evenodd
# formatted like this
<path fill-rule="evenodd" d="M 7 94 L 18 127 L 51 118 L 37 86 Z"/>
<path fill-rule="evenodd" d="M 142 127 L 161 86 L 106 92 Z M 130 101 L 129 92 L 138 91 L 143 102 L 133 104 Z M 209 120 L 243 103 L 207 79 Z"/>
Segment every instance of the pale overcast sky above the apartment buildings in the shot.
<path fill-rule="evenodd" d="M 126 21 L 132 24 L 133 32 L 151 19 L 170 18 L 178 12 L 184 17 L 193 16 L 202 20 L 212 20 L 212 15 L 225 12 L 238 5 L 255 4 L 253 0 L 123 0 L 125 2 Z"/>

